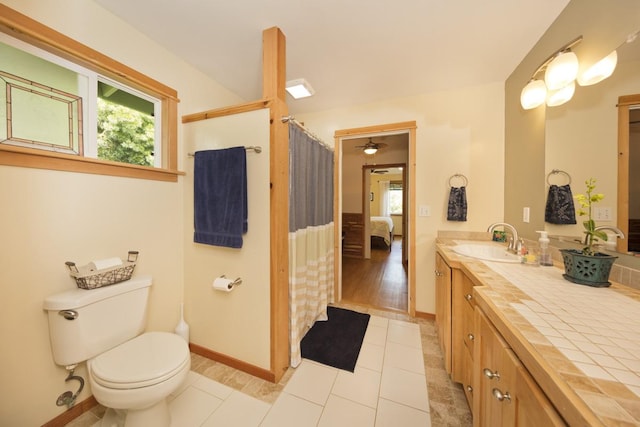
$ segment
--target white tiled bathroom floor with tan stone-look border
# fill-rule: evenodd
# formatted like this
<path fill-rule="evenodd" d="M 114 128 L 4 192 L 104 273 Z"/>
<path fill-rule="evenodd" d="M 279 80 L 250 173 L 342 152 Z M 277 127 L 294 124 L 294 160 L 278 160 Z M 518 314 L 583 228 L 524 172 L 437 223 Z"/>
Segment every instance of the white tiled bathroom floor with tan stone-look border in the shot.
<path fill-rule="evenodd" d="M 462 388 L 446 372 L 432 320 L 339 304 L 372 315 L 354 373 L 309 360 L 278 384 L 192 354 L 192 371 L 170 398 L 173 425 L 470 426 Z M 67 424 L 85 427 L 100 406 Z"/>

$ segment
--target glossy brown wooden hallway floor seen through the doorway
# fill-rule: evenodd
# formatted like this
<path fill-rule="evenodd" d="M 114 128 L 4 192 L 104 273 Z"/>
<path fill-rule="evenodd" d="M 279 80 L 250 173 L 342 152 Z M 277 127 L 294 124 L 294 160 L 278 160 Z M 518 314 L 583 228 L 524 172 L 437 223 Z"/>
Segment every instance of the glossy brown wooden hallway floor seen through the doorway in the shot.
<path fill-rule="evenodd" d="M 407 272 L 402 264 L 402 238 L 391 251 L 371 248 L 371 258 L 342 257 L 342 300 L 386 310 L 407 312 Z"/>

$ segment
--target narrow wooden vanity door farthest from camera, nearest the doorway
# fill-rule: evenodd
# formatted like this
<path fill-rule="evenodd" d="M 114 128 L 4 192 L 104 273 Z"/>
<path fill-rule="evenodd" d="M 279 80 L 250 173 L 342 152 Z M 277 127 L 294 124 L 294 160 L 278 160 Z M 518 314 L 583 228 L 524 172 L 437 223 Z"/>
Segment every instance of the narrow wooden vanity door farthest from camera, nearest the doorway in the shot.
<path fill-rule="evenodd" d="M 451 268 L 436 252 L 436 324 L 445 369 L 451 374 Z"/>

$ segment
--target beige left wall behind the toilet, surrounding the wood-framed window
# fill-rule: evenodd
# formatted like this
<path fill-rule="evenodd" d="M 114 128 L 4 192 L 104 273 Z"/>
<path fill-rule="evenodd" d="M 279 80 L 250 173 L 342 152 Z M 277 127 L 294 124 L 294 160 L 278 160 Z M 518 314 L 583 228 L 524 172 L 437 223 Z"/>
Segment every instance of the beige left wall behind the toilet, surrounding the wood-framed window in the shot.
<path fill-rule="evenodd" d="M 241 101 L 91 0 L 4 4 L 174 87 L 179 115 Z M 182 141 L 178 151 L 184 170 Z M 58 395 L 75 391 L 75 382 L 65 383 L 66 371 L 53 363 L 42 310 L 47 295 L 75 286 L 65 261 L 139 250 L 136 274 L 154 277 L 148 327 L 173 330 L 185 274 L 186 181 L 0 166 L 0 425 L 41 425 L 66 409 L 55 405 Z M 77 372 L 86 378 L 84 365 Z M 80 400 L 89 394 L 86 387 Z"/>

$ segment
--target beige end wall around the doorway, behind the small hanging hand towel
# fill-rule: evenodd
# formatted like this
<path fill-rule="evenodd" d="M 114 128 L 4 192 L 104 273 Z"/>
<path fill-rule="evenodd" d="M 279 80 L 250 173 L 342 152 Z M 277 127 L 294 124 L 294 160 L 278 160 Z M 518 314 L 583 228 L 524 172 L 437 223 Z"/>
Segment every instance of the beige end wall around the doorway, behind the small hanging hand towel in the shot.
<path fill-rule="evenodd" d="M 504 176 L 503 84 L 341 108 L 300 117 L 326 142 L 336 130 L 415 120 L 416 143 L 416 310 L 435 313 L 434 259 L 438 230 L 485 230 L 502 219 Z M 449 177 L 469 179 L 466 222 L 448 222 Z M 418 217 L 428 205 L 430 217 Z"/>

